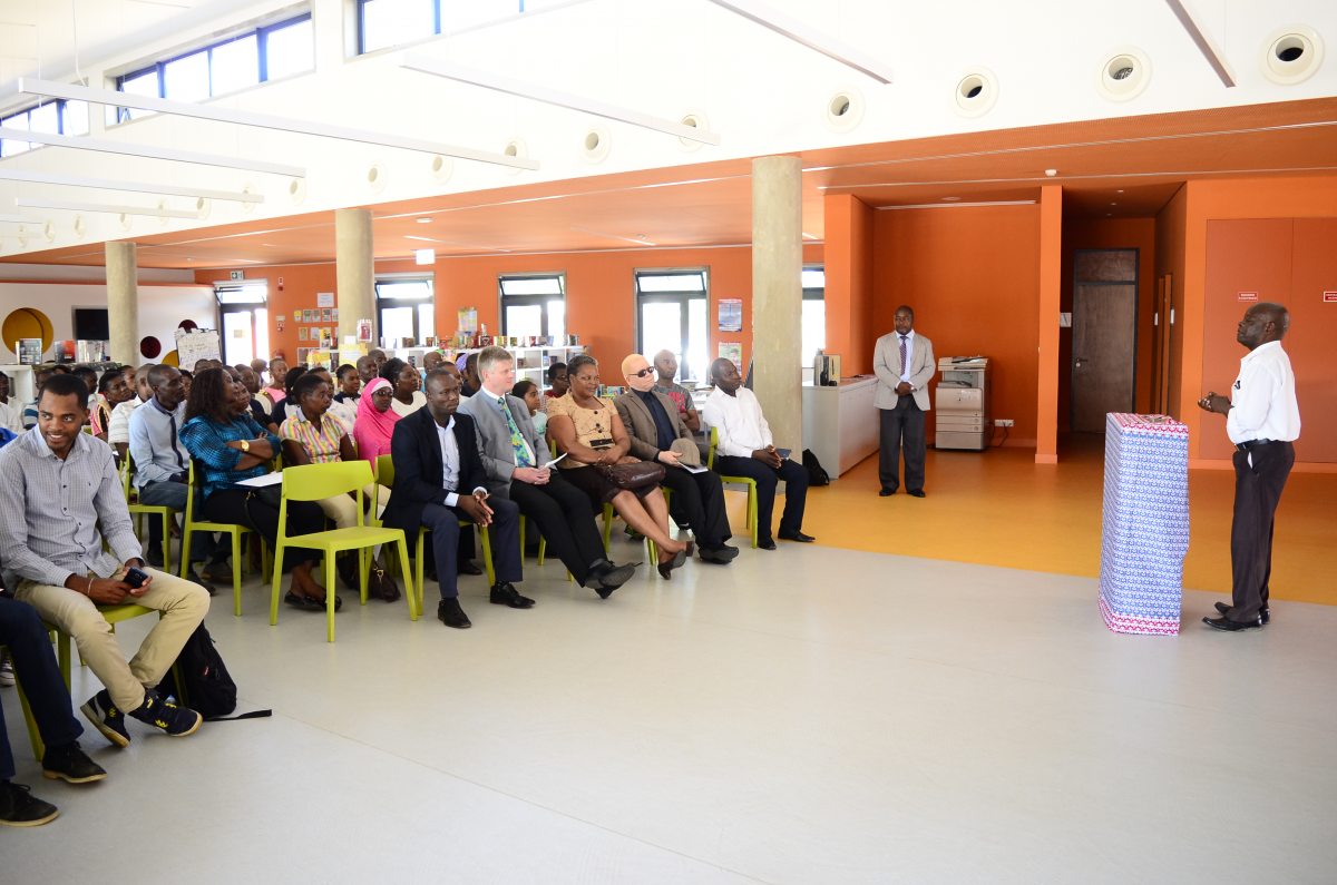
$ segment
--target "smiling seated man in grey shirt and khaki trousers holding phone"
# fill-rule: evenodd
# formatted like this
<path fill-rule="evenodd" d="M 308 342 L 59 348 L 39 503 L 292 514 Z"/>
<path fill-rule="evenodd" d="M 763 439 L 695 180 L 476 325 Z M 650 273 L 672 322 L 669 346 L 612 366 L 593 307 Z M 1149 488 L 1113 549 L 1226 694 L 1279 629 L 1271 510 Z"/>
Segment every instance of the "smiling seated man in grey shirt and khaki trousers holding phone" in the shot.
<path fill-rule="evenodd" d="M 111 447 L 82 432 L 87 400 L 82 380 L 52 376 L 37 394 L 37 432 L 0 451 L 5 587 L 75 639 L 106 686 L 82 711 L 108 741 L 130 745 L 127 714 L 170 735 L 193 734 L 201 715 L 152 686 L 205 619 L 209 594 L 144 565 Z M 120 603 L 162 615 L 128 663 L 98 611 Z"/>

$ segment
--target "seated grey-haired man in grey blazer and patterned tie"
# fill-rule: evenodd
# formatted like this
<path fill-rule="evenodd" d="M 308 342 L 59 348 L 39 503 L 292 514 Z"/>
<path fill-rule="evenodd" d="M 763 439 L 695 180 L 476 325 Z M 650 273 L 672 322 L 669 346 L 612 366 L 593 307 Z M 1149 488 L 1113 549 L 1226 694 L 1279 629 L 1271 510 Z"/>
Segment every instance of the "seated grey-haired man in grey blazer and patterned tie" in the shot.
<path fill-rule="evenodd" d="M 548 444 L 533 429 L 524 400 L 511 396 L 515 360 L 503 348 L 479 354 L 479 392 L 460 404 L 473 418 L 488 493 L 505 497 L 539 525 L 548 548 L 580 586 L 607 599 L 635 574 L 604 559 L 603 537 L 584 492 L 551 469 Z"/>

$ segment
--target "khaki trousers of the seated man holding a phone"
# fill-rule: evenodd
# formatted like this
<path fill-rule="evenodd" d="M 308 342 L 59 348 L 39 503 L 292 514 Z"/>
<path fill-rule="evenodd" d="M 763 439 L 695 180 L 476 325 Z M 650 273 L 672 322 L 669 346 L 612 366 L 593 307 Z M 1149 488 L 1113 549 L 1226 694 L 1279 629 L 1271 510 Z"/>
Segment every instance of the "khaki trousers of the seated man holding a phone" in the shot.
<path fill-rule="evenodd" d="M 144 568 L 152 583 L 143 596 L 126 596 L 127 603 L 162 612 L 144 636 L 135 656 L 126 662 L 111 624 L 98 606 L 67 587 L 51 587 L 24 580 L 15 590 L 19 602 L 37 610 L 41 619 L 74 638 L 79 655 L 107 686 L 112 703 L 124 713 L 144 702 L 144 688 L 156 686 L 180 654 L 182 646 L 209 612 L 209 592 L 156 568 Z"/>

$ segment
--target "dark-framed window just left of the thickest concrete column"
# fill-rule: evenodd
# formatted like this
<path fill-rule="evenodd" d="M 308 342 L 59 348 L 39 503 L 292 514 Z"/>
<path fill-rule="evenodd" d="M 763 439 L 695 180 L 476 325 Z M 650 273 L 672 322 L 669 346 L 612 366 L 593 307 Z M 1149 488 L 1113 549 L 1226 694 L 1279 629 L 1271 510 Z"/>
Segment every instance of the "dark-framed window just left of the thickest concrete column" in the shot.
<path fill-rule="evenodd" d="M 710 370 L 710 281 L 706 269 L 636 271 L 636 350 L 678 358 L 678 380 Z"/>

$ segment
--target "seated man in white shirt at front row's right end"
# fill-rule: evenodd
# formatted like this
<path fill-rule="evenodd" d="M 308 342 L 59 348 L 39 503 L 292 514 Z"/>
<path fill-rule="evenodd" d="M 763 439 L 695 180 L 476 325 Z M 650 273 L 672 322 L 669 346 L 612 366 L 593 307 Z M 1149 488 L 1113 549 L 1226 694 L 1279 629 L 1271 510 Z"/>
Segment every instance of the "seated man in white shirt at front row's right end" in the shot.
<path fill-rule="evenodd" d="M 770 425 L 761 413 L 757 396 L 742 386 L 733 360 L 715 360 L 710 365 L 715 389 L 706 400 L 702 420 L 719 436 L 715 447 L 715 471 L 725 476 L 746 476 L 757 481 L 757 545 L 775 549 L 770 535 L 775 508 L 775 485 L 785 480 L 785 512 L 779 516 L 779 539 L 810 543 L 804 533 L 804 504 L 808 500 L 808 471 L 775 449 Z"/>

